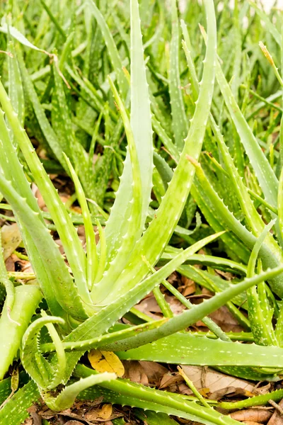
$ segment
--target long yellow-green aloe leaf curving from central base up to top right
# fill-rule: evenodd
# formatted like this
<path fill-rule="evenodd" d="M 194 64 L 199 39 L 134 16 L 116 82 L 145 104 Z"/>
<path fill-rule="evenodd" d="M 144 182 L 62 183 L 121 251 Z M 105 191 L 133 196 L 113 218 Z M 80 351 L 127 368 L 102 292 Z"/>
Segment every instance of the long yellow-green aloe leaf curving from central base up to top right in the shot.
<path fill-rule="evenodd" d="M 210 0 L 205 1 L 205 7 L 209 28 L 209 44 L 207 44 L 207 55 L 204 60 L 204 74 L 200 96 L 197 100 L 195 115 L 192 118 L 190 130 L 185 140 L 185 147 L 168 186 L 168 190 L 156 211 L 154 220 L 151 221 L 143 237 L 137 243 L 129 260 L 130 266 L 122 272 L 120 278 L 112 287 L 112 293 L 105 302 L 110 302 L 113 297 L 117 296 L 117 291 L 127 291 L 129 285 L 134 285 L 146 276 L 148 270 L 146 265 L 144 264 L 143 266 L 142 264 L 142 256 L 145 256 L 152 266 L 158 261 L 178 223 L 187 201 L 187 196 L 190 193 L 195 170 L 190 164 L 187 164 L 186 156 L 190 153 L 193 157 L 198 158 L 200 155 L 214 89 L 216 28 L 213 2 Z M 134 276 L 134 280 L 132 276 Z"/>

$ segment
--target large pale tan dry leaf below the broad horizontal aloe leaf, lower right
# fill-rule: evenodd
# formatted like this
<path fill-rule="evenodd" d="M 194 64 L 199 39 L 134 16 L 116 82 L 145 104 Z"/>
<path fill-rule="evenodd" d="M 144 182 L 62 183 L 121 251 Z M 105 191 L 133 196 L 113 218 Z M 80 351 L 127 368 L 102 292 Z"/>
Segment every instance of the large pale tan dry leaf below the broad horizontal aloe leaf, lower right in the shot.
<path fill-rule="evenodd" d="M 182 366 L 187 378 L 189 378 L 200 390 L 204 387 L 209 388 L 210 392 L 215 392 L 227 387 L 241 388 L 245 392 L 253 392 L 254 385 L 250 382 L 233 376 L 224 375 L 224 373 L 216 372 L 213 369 L 207 368 L 204 374 L 204 368 L 200 366 Z"/>

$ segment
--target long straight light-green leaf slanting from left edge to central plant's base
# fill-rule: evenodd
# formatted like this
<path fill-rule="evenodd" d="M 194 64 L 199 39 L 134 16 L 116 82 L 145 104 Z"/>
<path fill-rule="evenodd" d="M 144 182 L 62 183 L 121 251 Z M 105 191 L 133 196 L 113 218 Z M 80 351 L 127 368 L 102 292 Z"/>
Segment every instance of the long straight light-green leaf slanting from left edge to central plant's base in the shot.
<path fill-rule="evenodd" d="M 91 304 L 91 297 L 88 293 L 86 284 L 86 255 L 83 252 L 81 241 L 79 240 L 76 229 L 71 222 L 71 217 L 69 217 L 66 208 L 64 208 L 62 200 L 59 198 L 56 189 L 47 176 L 40 159 L 38 159 L 35 155 L 35 149 L 33 148 L 33 145 L 31 145 L 28 135 L 18 122 L 18 118 L 11 106 L 11 101 L 8 99 L 4 86 L 1 82 L 0 99 L 2 107 L 4 108 L 8 118 L 8 122 L 13 130 L 13 134 L 16 137 L 28 166 L 30 167 L 30 171 L 33 172 L 33 176 L 38 188 L 40 189 L 40 193 L 45 199 L 47 208 L 50 211 L 54 224 L 57 227 L 57 231 L 60 234 L 67 259 L 70 263 L 71 270 L 74 273 L 79 295 L 84 302 Z"/>

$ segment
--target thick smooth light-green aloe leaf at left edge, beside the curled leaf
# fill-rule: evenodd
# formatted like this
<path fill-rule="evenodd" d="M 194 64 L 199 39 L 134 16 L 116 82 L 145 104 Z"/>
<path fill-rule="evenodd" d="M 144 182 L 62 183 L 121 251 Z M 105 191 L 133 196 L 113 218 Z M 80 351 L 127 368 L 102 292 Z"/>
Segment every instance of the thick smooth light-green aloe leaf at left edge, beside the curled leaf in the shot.
<path fill-rule="evenodd" d="M 7 301 L 0 318 L 1 361 L 0 380 L 4 378 L 9 366 L 16 356 L 21 339 L 28 328 L 31 317 L 35 313 L 42 298 L 40 289 L 35 285 L 18 286 L 15 288 L 13 310 L 8 317 Z"/>

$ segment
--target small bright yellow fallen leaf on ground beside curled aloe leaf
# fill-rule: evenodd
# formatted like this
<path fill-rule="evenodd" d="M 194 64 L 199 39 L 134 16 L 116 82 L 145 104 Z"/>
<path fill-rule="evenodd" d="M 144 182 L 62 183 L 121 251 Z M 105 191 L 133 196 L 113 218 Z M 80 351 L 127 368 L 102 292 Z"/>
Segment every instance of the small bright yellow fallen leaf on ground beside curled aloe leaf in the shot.
<path fill-rule="evenodd" d="M 120 358 L 112 351 L 91 350 L 88 353 L 88 360 L 91 362 L 93 369 L 100 373 L 114 372 L 117 376 L 122 376 L 125 373 Z"/>

